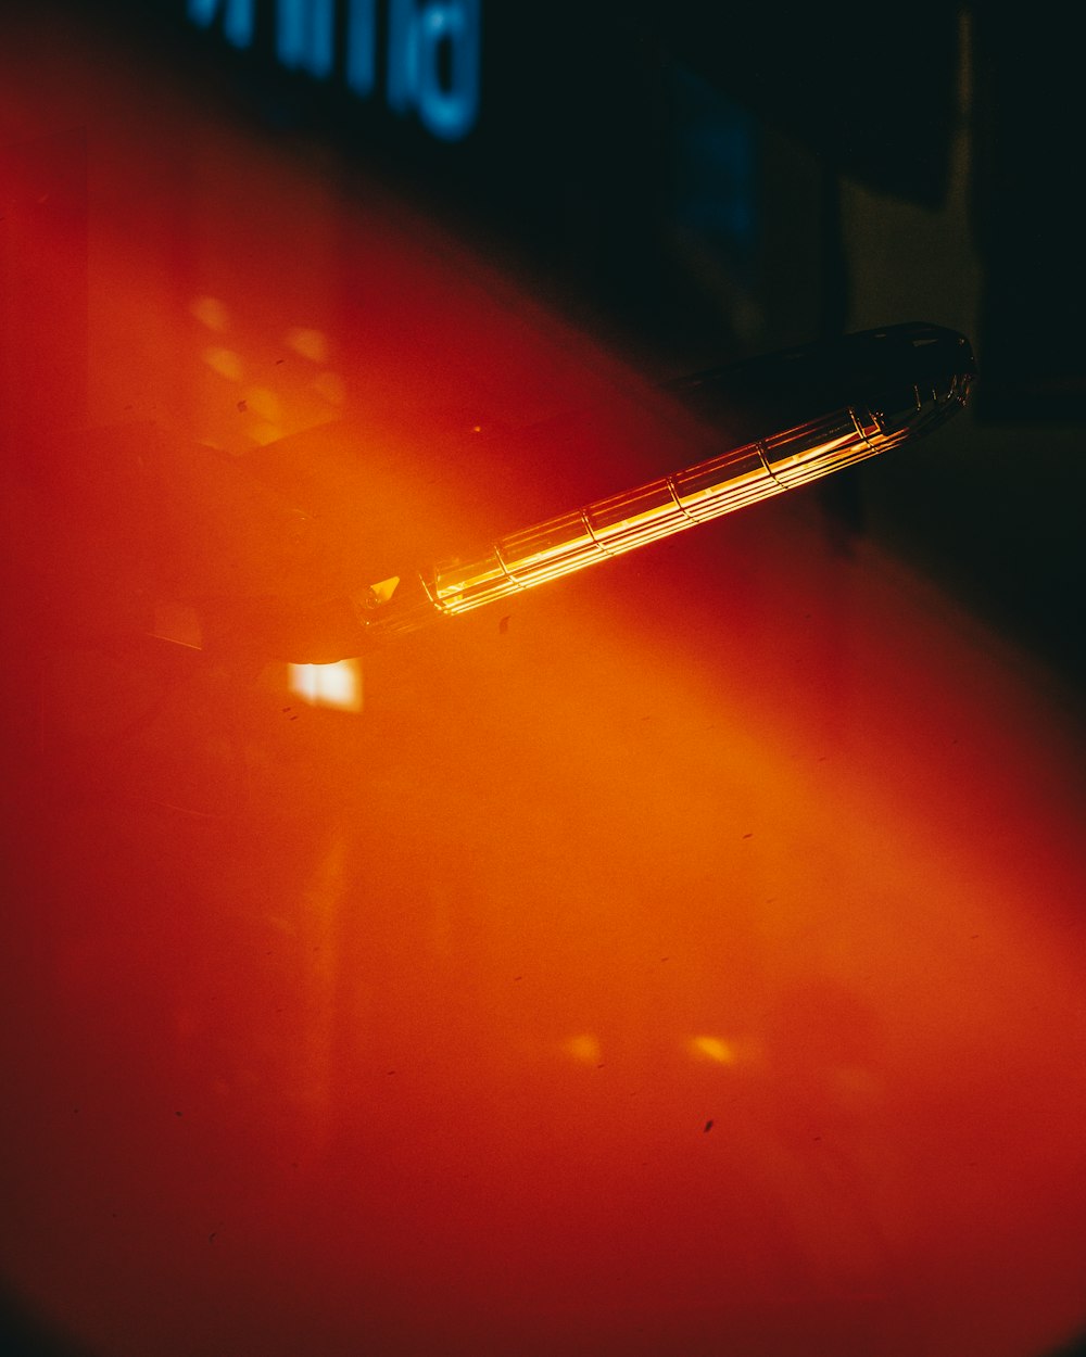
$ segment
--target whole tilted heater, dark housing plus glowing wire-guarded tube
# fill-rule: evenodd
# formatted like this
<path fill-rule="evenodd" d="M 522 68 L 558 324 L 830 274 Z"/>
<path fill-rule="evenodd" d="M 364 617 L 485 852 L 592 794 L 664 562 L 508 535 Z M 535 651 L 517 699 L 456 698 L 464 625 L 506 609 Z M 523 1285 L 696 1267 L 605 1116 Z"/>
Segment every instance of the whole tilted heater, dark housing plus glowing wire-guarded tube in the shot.
<path fill-rule="evenodd" d="M 470 612 L 808 484 L 943 423 L 976 373 L 968 339 L 911 323 L 673 383 L 694 414 L 749 434 L 719 455 L 509 533 L 482 555 L 352 598 L 367 645 Z"/>

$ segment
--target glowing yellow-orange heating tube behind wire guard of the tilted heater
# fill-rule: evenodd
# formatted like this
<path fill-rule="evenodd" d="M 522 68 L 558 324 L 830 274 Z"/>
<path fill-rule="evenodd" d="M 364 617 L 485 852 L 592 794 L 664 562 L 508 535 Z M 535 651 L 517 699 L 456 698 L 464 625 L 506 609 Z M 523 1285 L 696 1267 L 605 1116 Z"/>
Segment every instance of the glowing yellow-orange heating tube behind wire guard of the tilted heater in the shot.
<path fill-rule="evenodd" d="M 850 403 L 635 490 L 510 533 L 475 559 L 437 565 L 417 577 L 422 594 L 415 592 L 413 598 L 409 590 L 396 590 L 386 601 L 380 586 L 375 586 L 367 608 L 368 630 L 373 634 L 406 631 L 426 615 L 470 612 L 817 480 L 926 432 L 964 404 L 972 376 L 972 354 L 957 335 L 953 339 L 960 343 L 952 350 L 956 362 L 949 368 L 935 372 L 931 357 L 924 356 L 930 345 L 946 347 L 949 334 L 935 327 L 910 326 L 850 337 L 855 353 L 865 351 L 855 347 L 857 341 L 870 345 L 889 339 L 903 347 L 907 357 L 920 354 L 912 373 L 920 373 L 920 380 L 910 380 L 908 370 L 896 381 L 877 372 L 878 399 Z M 873 351 L 880 360 L 884 357 L 877 343 Z M 806 350 L 797 353 L 802 356 Z M 791 354 L 782 358 L 785 380 L 800 373 L 798 368 L 789 366 Z M 782 360 L 772 361 L 779 364 Z M 858 380 L 863 379 L 870 384 L 872 375 L 865 373 Z"/>

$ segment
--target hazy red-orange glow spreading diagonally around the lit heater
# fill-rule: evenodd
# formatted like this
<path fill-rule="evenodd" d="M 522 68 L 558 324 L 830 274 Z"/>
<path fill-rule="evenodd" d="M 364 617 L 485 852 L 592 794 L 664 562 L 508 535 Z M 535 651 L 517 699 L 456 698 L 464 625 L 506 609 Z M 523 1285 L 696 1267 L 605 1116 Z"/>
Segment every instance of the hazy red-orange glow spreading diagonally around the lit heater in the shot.
<path fill-rule="evenodd" d="M 87 33 L 18 38 L 10 1292 L 107 1357 L 1072 1331 L 1057 681 L 797 493 L 368 655 L 361 712 L 307 704 L 252 598 L 707 433 L 333 157 Z M 205 647 L 148 641 L 163 611 Z"/>

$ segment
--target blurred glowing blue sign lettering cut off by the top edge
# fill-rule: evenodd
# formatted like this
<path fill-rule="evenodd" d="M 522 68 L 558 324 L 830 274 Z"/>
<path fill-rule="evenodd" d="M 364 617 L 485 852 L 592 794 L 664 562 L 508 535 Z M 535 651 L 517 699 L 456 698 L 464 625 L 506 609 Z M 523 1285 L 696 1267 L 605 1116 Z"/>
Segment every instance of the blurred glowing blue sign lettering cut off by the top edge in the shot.
<path fill-rule="evenodd" d="M 274 53 L 286 71 L 384 98 L 443 141 L 479 114 L 481 0 L 276 0 Z M 339 12 L 342 8 L 342 14 Z M 186 0 L 201 28 L 239 50 L 258 41 L 258 0 Z"/>

